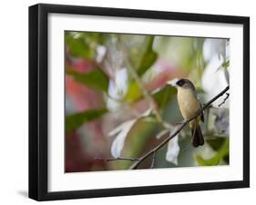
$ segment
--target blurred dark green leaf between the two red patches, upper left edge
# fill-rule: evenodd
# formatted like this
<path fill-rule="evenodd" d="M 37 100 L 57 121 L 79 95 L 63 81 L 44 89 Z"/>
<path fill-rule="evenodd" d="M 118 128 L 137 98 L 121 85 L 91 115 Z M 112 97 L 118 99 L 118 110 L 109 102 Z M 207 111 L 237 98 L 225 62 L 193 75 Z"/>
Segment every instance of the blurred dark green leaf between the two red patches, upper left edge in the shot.
<path fill-rule="evenodd" d="M 67 68 L 66 73 L 72 75 L 75 81 L 86 84 L 87 87 L 108 92 L 108 76 L 98 68 L 89 73 L 77 73 Z"/>

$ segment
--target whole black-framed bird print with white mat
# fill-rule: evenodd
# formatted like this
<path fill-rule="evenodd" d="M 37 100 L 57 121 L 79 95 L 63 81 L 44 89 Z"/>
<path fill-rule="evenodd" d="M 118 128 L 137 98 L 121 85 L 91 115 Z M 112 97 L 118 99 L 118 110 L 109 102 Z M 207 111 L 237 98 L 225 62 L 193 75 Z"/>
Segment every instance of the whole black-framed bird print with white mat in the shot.
<path fill-rule="evenodd" d="M 250 186 L 250 19 L 29 7 L 29 197 Z"/>

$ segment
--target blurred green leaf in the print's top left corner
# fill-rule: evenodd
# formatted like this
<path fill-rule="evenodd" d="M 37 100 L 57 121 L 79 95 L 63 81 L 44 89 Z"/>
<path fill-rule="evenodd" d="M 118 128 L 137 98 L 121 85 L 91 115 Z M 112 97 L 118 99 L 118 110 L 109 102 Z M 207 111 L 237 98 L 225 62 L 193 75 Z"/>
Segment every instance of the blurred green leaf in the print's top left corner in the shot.
<path fill-rule="evenodd" d="M 72 35 L 66 34 L 65 39 L 70 53 L 74 57 L 89 59 L 94 57 L 95 51 L 90 48 L 89 44 L 87 44 L 83 38 L 73 38 Z"/>

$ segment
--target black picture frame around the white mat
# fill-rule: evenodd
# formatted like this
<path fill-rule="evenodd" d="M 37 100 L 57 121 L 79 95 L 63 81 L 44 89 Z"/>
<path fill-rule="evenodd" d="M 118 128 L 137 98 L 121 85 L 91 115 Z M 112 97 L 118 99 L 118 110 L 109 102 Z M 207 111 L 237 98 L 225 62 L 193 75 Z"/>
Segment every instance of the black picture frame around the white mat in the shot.
<path fill-rule="evenodd" d="M 156 185 L 101 190 L 47 190 L 47 16 L 50 13 L 166 19 L 243 25 L 243 180 Z M 67 200 L 191 190 L 250 187 L 250 18 L 201 15 L 76 5 L 32 5 L 29 7 L 29 198 Z"/>

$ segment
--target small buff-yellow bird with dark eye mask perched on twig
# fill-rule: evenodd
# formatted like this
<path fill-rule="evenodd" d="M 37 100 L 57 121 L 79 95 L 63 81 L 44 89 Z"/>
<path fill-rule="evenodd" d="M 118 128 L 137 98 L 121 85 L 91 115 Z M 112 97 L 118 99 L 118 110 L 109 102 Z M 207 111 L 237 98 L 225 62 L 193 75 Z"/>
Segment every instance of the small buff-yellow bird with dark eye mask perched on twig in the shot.
<path fill-rule="evenodd" d="M 179 79 L 170 81 L 170 85 L 177 88 L 177 100 L 179 104 L 179 111 L 181 112 L 184 120 L 188 120 L 194 116 L 201 109 L 201 104 L 198 99 L 198 95 L 195 86 L 189 79 Z M 204 137 L 200 129 L 200 121 L 204 122 L 203 112 L 189 122 L 189 128 L 191 129 L 191 140 L 194 147 L 199 147 L 204 144 Z"/>

